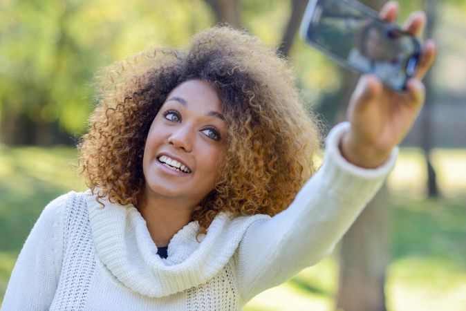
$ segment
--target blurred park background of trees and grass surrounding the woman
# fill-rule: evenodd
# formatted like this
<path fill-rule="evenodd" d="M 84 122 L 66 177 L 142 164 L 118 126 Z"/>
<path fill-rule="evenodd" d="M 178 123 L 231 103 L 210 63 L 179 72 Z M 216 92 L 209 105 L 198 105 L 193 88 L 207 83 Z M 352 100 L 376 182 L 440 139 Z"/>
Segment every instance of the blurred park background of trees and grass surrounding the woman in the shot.
<path fill-rule="evenodd" d="M 365 0 L 375 10 L 380 0 Z M 150 46 L 183 47 L 227 21 L 290 60 L 308 109 L 344 118 L 357 75 L 297 37 L 304 0 L 2 0 L 0 303 L 21 245 L 53 198 L 85 185 L 75 145 L 95 106 L 93 77 Z M 466 1 L 427 10 L 438 59 L 425 105 L 386 187 L 332 255 L 255 297 L 246 311 L 466 310 Z M 273 272 L 270 272 L 273 273 Z"/>

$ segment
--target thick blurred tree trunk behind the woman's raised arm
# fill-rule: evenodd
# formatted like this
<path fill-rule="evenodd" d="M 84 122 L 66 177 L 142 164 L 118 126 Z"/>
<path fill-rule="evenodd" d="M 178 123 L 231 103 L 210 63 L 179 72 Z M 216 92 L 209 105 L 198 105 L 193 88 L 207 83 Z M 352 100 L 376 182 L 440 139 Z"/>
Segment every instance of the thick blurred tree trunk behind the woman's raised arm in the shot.
<path fill-rule="evenodd" d="M 384 0 L 361 1 L 372 8 L 381 8 Z M 342 70 L 342 86 L 337 101 L 337 120 L 344 118 L 357 75 Z M 391 209 L 386 185 L 362 211 L 342 239 L 339 262 L 337 310 L 385 311 L 385 272 L 389 265 Z"/>

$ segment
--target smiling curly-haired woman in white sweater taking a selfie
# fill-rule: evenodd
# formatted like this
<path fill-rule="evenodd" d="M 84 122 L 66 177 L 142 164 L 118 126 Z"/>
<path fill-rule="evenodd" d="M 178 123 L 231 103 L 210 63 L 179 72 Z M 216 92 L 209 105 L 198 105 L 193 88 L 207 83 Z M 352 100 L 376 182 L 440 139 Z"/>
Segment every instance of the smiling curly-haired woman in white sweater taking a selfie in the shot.
<path fill-rule="evenodd" d="M 90 190 L 44 209 L 3 310 L 241 309 L 326 256 L 380 187 L 434 50 L 407 94 L 361 79 L 315 174 L 315 122 L 254 37 L 213 28 L 113 67 L 80 144 Z"/>

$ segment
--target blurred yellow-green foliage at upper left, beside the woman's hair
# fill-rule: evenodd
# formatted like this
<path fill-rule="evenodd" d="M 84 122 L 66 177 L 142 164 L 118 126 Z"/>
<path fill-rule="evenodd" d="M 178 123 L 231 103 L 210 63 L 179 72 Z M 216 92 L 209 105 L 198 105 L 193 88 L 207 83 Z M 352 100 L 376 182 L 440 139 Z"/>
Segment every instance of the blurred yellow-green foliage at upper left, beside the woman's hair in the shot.
<path fill-rule="evenodd" d="M 84 132 L 97 68 L 209 26 L 203 1 L 7 1 L 0 10 L 0 117 Z M 192 8 L 196 10 L 192 10 Z"/>

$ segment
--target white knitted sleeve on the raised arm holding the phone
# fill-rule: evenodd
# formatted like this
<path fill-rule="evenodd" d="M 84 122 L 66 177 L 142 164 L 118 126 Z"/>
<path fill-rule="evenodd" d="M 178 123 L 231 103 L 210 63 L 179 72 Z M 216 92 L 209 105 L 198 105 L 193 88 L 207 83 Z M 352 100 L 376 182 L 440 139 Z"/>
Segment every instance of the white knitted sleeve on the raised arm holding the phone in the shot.
<path fill-rule="evenodd" d="M 398 147 L 376 169 L 347 162 L 338 144 L 348 128 L 342 123 L 330 131 L 324 164 L 292 204 L 246 230 L 235 255 L 243 303 L 329 254 L 393 168 Z"/>

